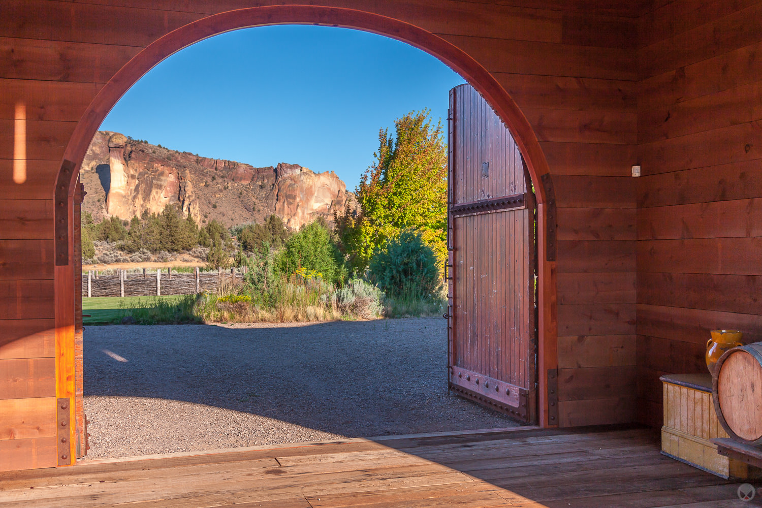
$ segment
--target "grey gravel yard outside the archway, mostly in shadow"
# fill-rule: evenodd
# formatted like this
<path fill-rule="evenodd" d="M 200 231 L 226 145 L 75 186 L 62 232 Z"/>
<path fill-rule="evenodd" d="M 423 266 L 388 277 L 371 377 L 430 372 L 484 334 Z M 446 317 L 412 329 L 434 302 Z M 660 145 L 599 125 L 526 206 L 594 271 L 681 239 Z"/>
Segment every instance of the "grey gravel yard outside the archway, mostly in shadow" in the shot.
<path fill-rule="evenodd" d="M 446 364 L 441 318 L 87 327 L 87 456 L 515 425 Z"/>

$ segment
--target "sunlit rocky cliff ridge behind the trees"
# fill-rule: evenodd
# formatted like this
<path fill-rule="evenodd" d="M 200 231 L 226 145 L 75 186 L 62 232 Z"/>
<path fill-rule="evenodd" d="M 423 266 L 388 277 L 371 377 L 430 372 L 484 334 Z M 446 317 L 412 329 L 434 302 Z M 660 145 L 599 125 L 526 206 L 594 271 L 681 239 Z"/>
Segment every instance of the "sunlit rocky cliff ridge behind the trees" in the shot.
<path fill-rule="evenodd" d="M 161 213 L 177 204 L 204 223 L 262 222 L 276 214 L 293 229 L 319 217 L 333 220 L 354 194 L 333 171 L 314 173 L 296 164 L 255 168 L 236 161 L 176 152 L 161 145 L 98 131 L 80 170 L 87 196 L 82 207 L 96 221 Z"/>

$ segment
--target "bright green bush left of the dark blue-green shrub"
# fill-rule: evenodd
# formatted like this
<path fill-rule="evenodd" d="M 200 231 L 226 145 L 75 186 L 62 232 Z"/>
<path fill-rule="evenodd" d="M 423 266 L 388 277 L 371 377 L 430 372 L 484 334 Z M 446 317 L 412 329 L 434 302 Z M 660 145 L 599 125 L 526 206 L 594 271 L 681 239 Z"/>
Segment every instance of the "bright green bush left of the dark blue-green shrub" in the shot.
<path fill-rule="evenodd" d="M 337 283 L 343 280 L 341 253 L 331 240 L 331 232 L 319 222 L 304 225 L 286 241 L 275 261 L 277 270 L 290 275 L 299 268 L 315 270 L 323 280 Z"/>

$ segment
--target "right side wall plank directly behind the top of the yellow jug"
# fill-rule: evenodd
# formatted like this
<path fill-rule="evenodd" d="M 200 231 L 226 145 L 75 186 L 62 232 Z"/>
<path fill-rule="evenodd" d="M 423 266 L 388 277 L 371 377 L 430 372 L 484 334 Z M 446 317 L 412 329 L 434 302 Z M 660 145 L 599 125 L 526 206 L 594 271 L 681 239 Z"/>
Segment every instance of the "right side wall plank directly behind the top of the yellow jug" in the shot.
<path fill-rule="evenodd" d="M 663 337 L 703 344 L 709 340 L 709 331 L 717 329 L 741 330 L 744 342 L 762 340 L 762 316 L 638 304 L 637 334 Z"/>

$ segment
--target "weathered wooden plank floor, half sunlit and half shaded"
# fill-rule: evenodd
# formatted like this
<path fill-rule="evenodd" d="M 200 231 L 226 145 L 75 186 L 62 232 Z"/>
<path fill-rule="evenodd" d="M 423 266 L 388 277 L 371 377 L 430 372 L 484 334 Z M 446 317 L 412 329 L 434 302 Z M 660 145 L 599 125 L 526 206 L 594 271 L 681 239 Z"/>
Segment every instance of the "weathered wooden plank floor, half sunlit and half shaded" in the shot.
<path fill-rule="evenodd" d="M 0 506 L 748 506 L 738 483 L 661 455 L 657 439 L 519 429 L 83 461 L 0 473 Z"/>

